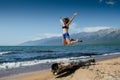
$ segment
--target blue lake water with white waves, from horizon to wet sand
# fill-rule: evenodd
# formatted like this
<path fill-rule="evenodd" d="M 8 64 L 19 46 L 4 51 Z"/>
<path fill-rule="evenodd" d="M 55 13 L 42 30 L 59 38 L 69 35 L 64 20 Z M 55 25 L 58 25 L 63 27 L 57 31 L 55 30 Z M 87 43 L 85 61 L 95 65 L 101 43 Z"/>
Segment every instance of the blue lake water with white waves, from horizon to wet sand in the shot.
<path fill-rule="evenodd" d="M 120 45 L 0 46 L 0 70 L 120 52 Z"/>

